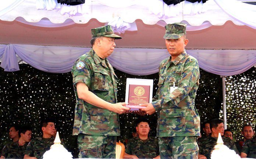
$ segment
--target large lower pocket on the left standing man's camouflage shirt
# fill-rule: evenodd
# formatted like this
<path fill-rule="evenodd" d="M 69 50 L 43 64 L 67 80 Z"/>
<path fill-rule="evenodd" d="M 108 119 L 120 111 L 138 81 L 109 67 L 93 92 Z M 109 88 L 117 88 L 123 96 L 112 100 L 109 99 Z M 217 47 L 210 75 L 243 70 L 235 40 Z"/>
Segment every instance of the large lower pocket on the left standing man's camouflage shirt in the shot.
<path fill-rule="evenodd" d="M 90 108 L 90 129 L 106 131 L 109 130 L 110 111 L 102 108 Z"/>

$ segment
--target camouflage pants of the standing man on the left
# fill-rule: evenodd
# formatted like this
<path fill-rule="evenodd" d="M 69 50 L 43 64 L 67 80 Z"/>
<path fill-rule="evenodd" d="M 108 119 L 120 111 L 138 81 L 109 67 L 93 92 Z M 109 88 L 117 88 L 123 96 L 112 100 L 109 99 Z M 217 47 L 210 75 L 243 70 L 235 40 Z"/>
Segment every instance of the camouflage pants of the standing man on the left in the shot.
<path fill-rule="evenodd" d="M 78 134 L 79 158 L 115 158 L 116 136 Z"/>

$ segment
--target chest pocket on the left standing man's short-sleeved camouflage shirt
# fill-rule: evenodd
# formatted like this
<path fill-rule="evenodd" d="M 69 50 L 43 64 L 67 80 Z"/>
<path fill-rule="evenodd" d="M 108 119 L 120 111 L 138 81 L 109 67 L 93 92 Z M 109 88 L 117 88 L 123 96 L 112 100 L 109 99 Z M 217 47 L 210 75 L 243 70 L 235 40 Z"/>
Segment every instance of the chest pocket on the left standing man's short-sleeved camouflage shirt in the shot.
<path fill-rule="evenodd" d="M 107 76 L 109 74 L 105 73 L 102 70 L 94 70 L 94 90 L 102 90 L 102 91 L 108 91 L 109 85 L 107 83 Z"/>

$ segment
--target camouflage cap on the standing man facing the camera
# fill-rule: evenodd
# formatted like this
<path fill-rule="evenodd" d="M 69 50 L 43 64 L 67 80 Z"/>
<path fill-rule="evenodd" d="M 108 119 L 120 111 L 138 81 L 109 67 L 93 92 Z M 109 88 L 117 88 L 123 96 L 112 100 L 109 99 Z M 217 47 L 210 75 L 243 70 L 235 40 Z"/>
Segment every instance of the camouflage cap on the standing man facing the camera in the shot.
<path fill-rule="evenodd" d="M 166 34 L 165 39 L 177 39 L 182 37 L 186 33 L 186 24 L 184 23 L 173 23 L 165 26 Z"/>

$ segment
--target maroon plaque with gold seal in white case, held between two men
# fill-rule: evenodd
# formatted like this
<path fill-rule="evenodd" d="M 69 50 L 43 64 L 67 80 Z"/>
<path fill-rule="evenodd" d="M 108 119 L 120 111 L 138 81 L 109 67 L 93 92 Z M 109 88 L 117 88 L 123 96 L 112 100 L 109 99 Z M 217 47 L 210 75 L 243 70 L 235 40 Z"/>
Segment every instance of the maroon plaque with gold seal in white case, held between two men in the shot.
<path fill-rule="evenodd" d="M 140 104 L 152 102 L 153 79 L 136 79 L 127 78 L 125 103 L 126 107 L 131 108 L 130 111 L 145 108 Z"/>

